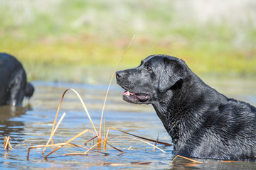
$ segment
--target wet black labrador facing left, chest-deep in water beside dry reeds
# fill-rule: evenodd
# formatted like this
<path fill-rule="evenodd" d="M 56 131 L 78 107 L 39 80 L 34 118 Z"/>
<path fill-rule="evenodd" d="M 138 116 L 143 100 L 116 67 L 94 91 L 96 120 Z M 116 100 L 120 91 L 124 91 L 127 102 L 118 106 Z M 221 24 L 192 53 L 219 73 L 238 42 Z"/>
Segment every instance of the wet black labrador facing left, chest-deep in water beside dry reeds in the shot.
<path fill-rule="evenodd" d="M 206 85 L 183 60 L 151 55 L 116 73 L 124 101 L 152 104 L 174 143 L 174 154 L 207 159 L 256 156 L 256 108 Z"/>

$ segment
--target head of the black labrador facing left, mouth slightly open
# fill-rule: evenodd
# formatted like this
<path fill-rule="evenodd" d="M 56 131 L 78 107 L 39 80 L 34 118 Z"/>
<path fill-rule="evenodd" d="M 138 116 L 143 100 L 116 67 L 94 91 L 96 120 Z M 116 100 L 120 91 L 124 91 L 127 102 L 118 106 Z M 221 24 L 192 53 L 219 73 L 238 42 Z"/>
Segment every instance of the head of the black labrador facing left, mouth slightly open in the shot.
<path fill-rule="evenodd" d="M 117 84 L 125 90 L 124 101 L 151 104 L 166 91 L 180 89 L 186 64 L 169 55 L 150 55 L 139 67 L 116 73 Z"/>

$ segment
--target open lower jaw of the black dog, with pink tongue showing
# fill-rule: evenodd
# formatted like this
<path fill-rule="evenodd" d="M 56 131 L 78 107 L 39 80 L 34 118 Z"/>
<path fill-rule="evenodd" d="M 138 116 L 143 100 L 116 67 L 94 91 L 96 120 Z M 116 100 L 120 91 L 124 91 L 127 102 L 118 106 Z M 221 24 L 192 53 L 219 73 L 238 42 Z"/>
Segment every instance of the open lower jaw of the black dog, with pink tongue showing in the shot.
<path fill-rule="evenodd" d="M 129 91 L 124 91 L 123 94 L 124 101 L 134 104 L 149 104 L 150 96 L 144 93 L 132 93 Z"/>

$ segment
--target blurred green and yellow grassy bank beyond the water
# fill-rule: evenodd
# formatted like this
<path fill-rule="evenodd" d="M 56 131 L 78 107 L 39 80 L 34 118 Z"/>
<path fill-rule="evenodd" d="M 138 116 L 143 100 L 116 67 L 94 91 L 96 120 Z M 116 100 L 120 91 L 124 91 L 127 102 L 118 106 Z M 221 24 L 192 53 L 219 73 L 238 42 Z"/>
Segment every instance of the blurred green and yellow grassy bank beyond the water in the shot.
<path fill-rule="evenodd" d="M 255 0 L 0 0 L 0 51 L 29 80 L 108 81 L 133 35 L 119 69 L 166 54 L 196 74 L 256 75 Z"/>

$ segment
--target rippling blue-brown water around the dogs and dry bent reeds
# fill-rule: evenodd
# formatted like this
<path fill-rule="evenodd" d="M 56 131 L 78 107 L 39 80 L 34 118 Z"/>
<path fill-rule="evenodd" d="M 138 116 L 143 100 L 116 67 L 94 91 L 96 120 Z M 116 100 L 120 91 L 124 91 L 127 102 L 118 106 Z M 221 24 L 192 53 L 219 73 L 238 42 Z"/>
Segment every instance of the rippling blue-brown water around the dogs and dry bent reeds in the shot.
<path fill-rule="evenodd" d="M 212 79 L 205 77 L 207 84 L 228 97 L 247 101 L 256 106 L 255 79 Z M 27 160 L 28 147 L 45 145 L 50 137 L 55 113 L 63 91 L 73 88 L 79 92 L 90 112 L 93 123 L 99 130 L 102 105 L 107 85 L 69 84 L 53 82 L 33 82 L 36 92 L 31 101 L 24 101 L 23 108 L 0 108 L 0 143 L 3 146 L 4 136 L 11 137 L 11 151 L 0 149 L 0 169 L 256 169 L 255 162 L 220 162 L 216 160 L 196 159 L 203 164 L 177 158 L 174 164 L 173 147 L 158 145 L 165 153 L 143 142 L 130 138 L 113 138 L 110 145 L 124 151 L 121 154 L 116 149 L 107 146 L 108 154 L 89 152 L 88 155 L 63 156 L 66 153 L 82 153 L 86 149 L 79 147 L 62 147 L 44 159 L 43 148 L 31 149 Z M 107 99 L 104 114 L 105 131 L 108 127 L 130 132 L 134 135 L 160 141 L 171 142 L 171 138 L 164 129 L 161 121 L 154 113 L 152 106 L 137 106 L 122 101 L 123 90 L 113 84 Z M 61 143 L 74 137 L 82 130 L 92 130 L 92 125 L 78 100 L 78 97 L 68 91 L 60 109 L 60 115 L 67 113 L 60 124 L 53 140 Z M 126 136 L 122 132 L 110 130 L 109 137 Z M 83 142 L 94 137 L 87 132 L 72 143 L 82 145 Z M 96 144 L 92 140 L 86 147 Z M 151 142 L 152 143 L 152 142 Z M 154 142 L 152 143 L 154 145 Z M 129 147 L 131 147 L 129 149 Z M 54 148 L 46 149 L 48 154 Z"/>

